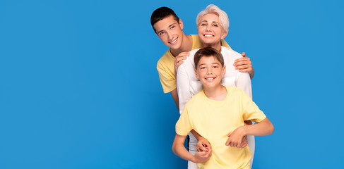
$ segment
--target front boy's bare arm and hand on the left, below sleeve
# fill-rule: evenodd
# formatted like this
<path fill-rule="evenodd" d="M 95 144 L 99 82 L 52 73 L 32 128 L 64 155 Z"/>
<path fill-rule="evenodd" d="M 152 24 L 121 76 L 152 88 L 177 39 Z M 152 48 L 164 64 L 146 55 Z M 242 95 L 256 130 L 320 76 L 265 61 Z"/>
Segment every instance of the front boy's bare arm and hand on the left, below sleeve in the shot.
<path fill-rule="evenodd" d="M 176 154 L 180 158 L 183 158 L 184 160 L 192 161 L 194 163 L 202 163 L 209 160 L 211 151 L 197 152 L 195 156 L 190 154 L 189 151 L 187 151 L 184 147 L 185 138 L 186 136 L 176 134 L 172 145 L 172 151 L 174 152 L 174 154 Z"/>

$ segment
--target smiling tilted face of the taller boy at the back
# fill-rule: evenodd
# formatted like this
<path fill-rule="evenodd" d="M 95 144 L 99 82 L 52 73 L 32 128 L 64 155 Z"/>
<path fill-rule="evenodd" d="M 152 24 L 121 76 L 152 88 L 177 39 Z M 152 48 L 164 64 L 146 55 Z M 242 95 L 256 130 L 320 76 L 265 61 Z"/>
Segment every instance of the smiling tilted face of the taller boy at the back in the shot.
<path fill-rule="evenodd" d="M 172 49 L 179 49 L 182 46 L 183 42 L 183 23 L 179 19 L 174 20 L 173 16 L 159 20 L 158 23 L 155 23 L 153 27 L 156 30 L 156 34 L 161 39 L 161 41 Z"/>

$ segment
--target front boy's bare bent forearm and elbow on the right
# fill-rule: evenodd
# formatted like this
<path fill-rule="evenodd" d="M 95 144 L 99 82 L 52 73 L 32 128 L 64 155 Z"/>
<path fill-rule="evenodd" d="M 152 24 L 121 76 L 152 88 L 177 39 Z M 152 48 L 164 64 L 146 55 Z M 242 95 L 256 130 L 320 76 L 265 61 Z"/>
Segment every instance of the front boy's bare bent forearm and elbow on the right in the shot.
<path fill-rule="evenodd" d="M 272 134 L 274 127 L 268 118 L 265 118 L 260 123 L 257 123 L 255 125 L 244 125 L 244 135 L 257 135 L 257 136 L 263 136 Z"/>

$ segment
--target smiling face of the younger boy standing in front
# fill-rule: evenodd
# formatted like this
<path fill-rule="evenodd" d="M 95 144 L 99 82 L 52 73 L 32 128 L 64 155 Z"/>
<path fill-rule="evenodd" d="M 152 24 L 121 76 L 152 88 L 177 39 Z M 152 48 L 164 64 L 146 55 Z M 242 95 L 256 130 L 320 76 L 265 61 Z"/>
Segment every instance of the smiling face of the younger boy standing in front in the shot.
<path fill-rule="evenodd" d="M 203 87 L 215 87 L 221 84 L 221 79 L 226 73 L 225 65 L 214 56 L 203 56 L 195 68 L 196 77 L 201 81 Z"/>

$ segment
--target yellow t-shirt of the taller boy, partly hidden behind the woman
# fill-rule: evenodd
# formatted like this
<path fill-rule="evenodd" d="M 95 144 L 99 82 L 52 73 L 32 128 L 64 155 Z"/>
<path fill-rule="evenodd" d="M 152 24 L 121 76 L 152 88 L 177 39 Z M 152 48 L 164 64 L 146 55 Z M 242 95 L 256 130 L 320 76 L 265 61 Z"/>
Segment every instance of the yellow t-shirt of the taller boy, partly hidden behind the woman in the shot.
<path fill-rule="evenodd" d="M 198 49 L 202 47 L 201 41 L 198 35 L 192 36 L 192 49 Z M 221 45 L 229 49 L 230 45 L 225 40 L 221 40 Z M 164 55 L 159 59 L 157 69 L 160 77 L 160 82 L 164 93 L 171 92 L 177 87 L 176 77 L 174 75 L 174 56 L 172 56 L 170 49 L 168 49 Z"/>

